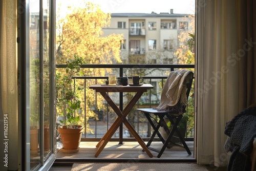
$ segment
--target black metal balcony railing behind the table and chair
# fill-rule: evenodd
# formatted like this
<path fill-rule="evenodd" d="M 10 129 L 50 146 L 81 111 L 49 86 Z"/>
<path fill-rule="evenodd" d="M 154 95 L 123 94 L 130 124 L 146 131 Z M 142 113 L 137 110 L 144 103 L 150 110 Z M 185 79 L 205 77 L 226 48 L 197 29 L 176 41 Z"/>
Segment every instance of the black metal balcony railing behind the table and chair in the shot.
<path fill-rule="evenodd" d="M 81 68 L 84 69 L 112 69 L 112 73 L 116 73 L 117 77 L 127 76 L 131 78 L 132 75 L 140 73 L 140 76 L 144 78 L 144 83 L 151 83 L 154 86 L 153 90 L 150 90 L 142 95 L 137 105 L 134 107 L 132 111 L 132 115 L 128 115 L 127 120 L 134 126 L 135 130 L 142 137 L 142 139 L 147 140 L 150 138 L 152 134 L 151 126 L 146 121 L 145 118 L 141 114 L 136 111 L 136 108 L 153 108 L 158 106 L 160 102 L 161 88 L 163 87 L 164 81 L 168 76 L 170 71 L 175 71 L 179 69 L 194 69 L 194 65 L 82 65 Z M 56 68 L 59 70 L 61 68 L 66 68 L 66 65 L 56 65 Z M 92 71 L 91 71 L 92 72 Z M 82 109 L 82 113 L 79 116 L 84 118 L 84 124 L 88 125 L 86 130 L 82 135 L 81 141 L 98 141 L 104 133 L 109 129 L 114 119 L 117 117 L 115 113 L 113 113 L 112 109 L 110 109 L 109 105 L 106 101 L 103 100 L 103 106 L 101 109 L 97 106 L 98 97 L 100 94 L 95 93 L 93 90 L 89 90 L 89 84 L 91 83 L 104 83 L 104 81 L 108 78 L 108 76 L 79 76 L 75 77 L 75 80 L 79 82 L 79 84 L 83 84 L 85 91 L 82 95 L 82 99 L 84 99 L 84 108 Z M 93 105 L 89 106 L 90 109 L 86 109 L 87 95 L 94 93 L 95 99 L 91 99 Z M 126 102 L 129 101 L 127 98 L 130 98 L 131 94 L 129 93 L 113 93 L 110 95 L 113 98 L 114 102 L 118 104 L 120 110 L 123 109 Z M 94 117 L 87 118 L 86 111 L 90 110 L 95 113 Z M 188 111 L 189 112 L 189 111 Z M 188 113 L 189 114 L 189 113 Z M 194 111 L 193 111 L 194 114 Z M 190 114 L 189 114 L 190 115 Z M 131 116 L 131 117 L 130 117 Z M 92 132 L 90 132 L 92 131 Z M 194 127 L 191 129 L 194 132 Z M 194 136 L 194 134 L 192 134 Z M 194 138 L 186 137 L 187 141 L 194 141 Z M 127 131 L 126 127 L 121 125 L 114 134 L 111 141 L 118 141 L 120 143 L 125 141 L 136 141 L 135 138 L 132 137 L 129 131 Z"/>

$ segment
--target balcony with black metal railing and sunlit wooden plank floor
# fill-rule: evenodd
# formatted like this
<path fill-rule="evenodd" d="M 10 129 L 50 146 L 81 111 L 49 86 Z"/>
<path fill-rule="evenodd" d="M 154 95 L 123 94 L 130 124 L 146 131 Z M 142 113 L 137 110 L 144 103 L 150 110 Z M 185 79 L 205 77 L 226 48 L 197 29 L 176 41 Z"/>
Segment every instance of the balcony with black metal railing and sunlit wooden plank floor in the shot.
<path fill-rule="evenodd" d="M 127 120 L 131 123 L 131 125 L 134 127 L 135 131 L 139 134 L 139 136 L 146 142 L 148 139 L 150 139 L 151 135 L 153 134 L 153 129 L 150 126 L 150 123 L 142 116 L 141 113 L 137 112 L 136 108 L 154 108 L 158 106 L 160 102 L 160 96 L 161 96 L 161 88 L 163 87 L 163 84 L 168 76 L 168 73 L 170 71 L 176 71 L 179 69 L 194 69 L 194 65 L 82 65 L 82 69 L 112 69 L 112 73 L 116 73 L 117 77 L 127 76 L 129 79 L 131 79 L 131 75 L 140 75 L 144 78 L 143 83 L 150 83 L 154 86 L 154 89 L 144 92 L 144 94 L 141 96 L 140 100 L 137 102 L 137 104 L 134 106 L 134 109 L 131 111 L 131 113 L 127 116 Z M 57 70 L 65 70 L 66 65 L 56 65 Z M 84 71 L 86 73 L 86 71 Z M 104 83 L 104 81 L 108 78 L 108 76 L 78 76 L 74 77 L 74 81 L 79 84 L 79 86 L 84 87 L 84 93 L 81 94 L 81 99 L 83 102 L 82 106 L 83 109 L 79 112 L 79 116 L 81 120 L 84 120 L 84 125 L 87 125 L 82 133 L 81 138 L 81 145 L 80 147 L 81 152 L 84 150 L 89 150 L 90 153 L 84 152 L 87 155 L 83 155 L 82 158 L 78 156 L 67 156 L 66 154 L 62 154 L 62 152 L 58 152 L 57 154 L 57 162 L 64 162 L 66 160 L 69 160 L 70 162 L 74 160 L 91 160 L 93 157 L 93 154 L 95 153 L 96 148 L 94 145 L 97 144 L 97 142 L 103 137 L 103 135 L 106 133 L 106 131 L 109 130 L 110 126 L 114 122 L 117 115 L 114 113 L 114 111 L 111 109 L 111 107 L 108 105 L 106 101 L 102 101 L 101 107 L 99 108 L 99 97 L 101 96 L 99 93 L 96 93 L 94 90 L 89 89 L 90 84 L 101 84 Z M 193 92 L 193 91 L 192 91 Z M 88 99 L 87 95 L 91 95 L 94 99 Z M 126 106 L 127 102 L 130 101 L 129 98 L 131 98 L 131 94 L 129 93 L 110 93 L 109 94 L 113 101 L 119 106 L 120 109 L 123 109 L 124 106 Z M 191 100 L 191 99 L 190 99 Z M 90 101 L 90 102 L 89 102 Z M 193 100 L 192 100 L 193 101 Z M 86 104 L 92 104 L 90 106 L 87 106 Z M 191 102 L 187 106 L 187 113 L 185 115 L 194 115 L 194 106 L 192 105 L 193 102 Z M 87 114 L 90 112 L 93 112 L 93 116 L 88 116 Z M 59 119 L 59 118 L 58 118 Z M 58 120 L 57 119 L 57 120 Z M 194 119 L 192 119 L 193 122 L 188 123 L 190 125 L 189 129 L 187 129 L 187 134 L 185 136 L 185 141 L 188 142 L 190 150 L 193 151 L 194 148 Z M 58 122 L 57 122 L 58 124 Z M 192 127 L 191 127 L 192 125 Z M 188 133 L 189 132 L 189 133 Z M 161 141 L 158 137 L 155 137 L 156 142 L 154 141 L 155 145 L 161 145 Z M 119 129 L 115 132 L 113 137 L 111 138 L 110 142 L 108 143 L 110 147 L 109 149 L 112 149 L 115 151 L 116 144 L 123 144 L 123 142 L 126 142 L 126 144 L 133 144 L 135 146 L 138 146 L 136 139 L 133 137 L 133 135 L 128 131 L 125 125 L 120 125 Z M 160 141 L 160 142 L 157 142 Z M 114 142 L 114 143 L 113 143 Z M 91 145 L 91 147 L 89 147 Z M 61 142 L 57 140 L 57 148 L 61 148 Z M 87 149 L 90 148 L 90 149 Z M 119 148 L 119 147 L 118 147 Z M 123 146 L 124 151 L 131 151 L 129 149 L 129 145 L 126 149 L 125 146 Z M 174 151 L 176 152 L 174 152 Z M 103 150 L 104 151 L 104 150 Z M 172 151 L 172 152 L 170 152 Z M 182 152 L 181 152 L 182 151 Z M 194 156 L 190 156 L 189 158 L 181 159 L 179 156 L 180 153 L 186 154 L 185 149 L 183 150 L 183 147 L 181 149 L 179 148 L 172 148 L 166 150 L 166 155 L 163 155 L 163 158 L 159 158 L 157 160 L 164 161 L 164 160 L 188 160 L 188 161 L 194 161 Z M 111 152 L 112 153 L 112 152 Z M 125 153 L 125 152 L 123 152 Z M 138 153 L 141 152 L 141 149 L 137 149 L 134 151 L 133 159 L 138 158 Z M 170 153 L 177 154 L 177 158 L 173 157 L 173 155 L 170 155 Z M 113 154 L 113 153 L 112 153 Z M 117 154 L 118 155 L 118 154 Z M 63 157 L 66 156 L 66 157 Z M 108 160 L 114 160 L 113 158 L 109 158 L 109 152 L 105 151 L 102 153 L 99 159 L 102 161 L 108 161 Z M 122 155 L 123 156 L 123 155 Z M 146 154 L 145 154 L 146 156 Z M 120 160 L 120 158 L 116 158 L 117 160 Z M 125 158 L 121 158 L 122 160 L 126 160 Z M 95 160 L 95 159 L 94 159 Z M 131 160 L 131 156 L 127 157 L 127 160 Z M 136 159 L 138 161 L 143 161 L 143 158 Z M 145 160 L 148 160 L 148 157 L 145 158 Z M 153 159 L 154 160 L 154 159 Z"/>

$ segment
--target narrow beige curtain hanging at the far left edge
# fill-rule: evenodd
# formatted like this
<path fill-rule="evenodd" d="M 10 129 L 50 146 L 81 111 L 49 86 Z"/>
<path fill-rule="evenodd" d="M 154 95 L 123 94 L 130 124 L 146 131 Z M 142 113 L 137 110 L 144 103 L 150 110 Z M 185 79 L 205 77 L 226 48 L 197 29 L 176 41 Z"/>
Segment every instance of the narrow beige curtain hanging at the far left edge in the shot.
<path fill-rule="evenodd" d="M 16 1 L 0 0 L 0 134 L 1 170 L 17 170 L 17 54 Z M 4 137 L 4 123 L 8 135 Z M 5 127 L 6 129 L 7 127 Z M 8 142 L 8 168 L 4 166 L 4 152 Z"/>

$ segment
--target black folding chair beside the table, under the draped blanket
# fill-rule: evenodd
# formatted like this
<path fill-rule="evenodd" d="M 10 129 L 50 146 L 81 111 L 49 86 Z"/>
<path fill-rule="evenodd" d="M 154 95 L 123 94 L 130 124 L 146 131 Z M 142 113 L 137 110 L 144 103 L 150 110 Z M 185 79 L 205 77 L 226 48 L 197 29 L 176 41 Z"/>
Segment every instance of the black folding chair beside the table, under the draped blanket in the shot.
<path fill-rule="evenodd" d="M 192 82 L 193 82 L 194 73 L 191 72 L 191 71 L 188 71 L 188 70 L 185 70 L 185 71 L 189 72 L 189 74 L 187 74 L 188 78 L 186 79 L 186 82 L 183 82 L 185 84 L 184 88 L 186 89 L 185 95 L 183 95 L 183 96 L 186 96 L 185 98 L 186 98 L 186 102 L 187 102 L 187 99 L 188 99 L 188 96 L 189 96 L 189 93 L 190 93 L 190 89 L 191 89 L 191 85 L 192 85 Z M 173 74 L 173 73 L 171 72 L 170 75 L 171 74 Z M 168 76 L 168 78 L 170 77 L 170 75 Z M 167 80 L 164 84 L 163 89 L 168 87 L 168 84 L 169 84 L 169 82 L 167 82 L 168 78 L 167 78 Z M 161 93 L 161 100 L 164 99 L 163 96 L 166 96 L 163 93 L 164 92 Z M 160 100 L 160 103 L 162 103 L 161 100 Z M 164 103 L 162 103 L 162 104 L 164 104 Z M 177 110 L 177 108 L 179 108 L 180 110 Z M 147 118 L 148 122 L 150 122 L 150 124 L 151 124 L 151 126 L 154 130 L 150 140 L 146 144 L 146 147 L 148 149 L 151 149 L 152 151 L 157 152 L 158 153 L 158 156 L 157 156 L 158 158 L 161 157 L 161 155 L 165 151 L 166 147 L 169 148 L 168 144 L 171 141 L 172 137 L 174 136 L 174 133 L 177 134 L 178 138 L 180 139 L 180 141 L 183 144 L 184 148 L 186 149 L 187 153 L 189 155 L 191 155 L 191 152 L 190 152 L 184 138 L 182 137 L 182 135 L 179 132 L 178 127 L 177 127 L 178 124 L 180 123 L 182 117 L 183 117 L 183 114 L 186 112 L 186 105 L 181 105 L 180 100 L 176 103 L 174 108 L 172 108 L 172 106 L 168 106 L 168 108 L 166 108 L 165 110 L 159 110 L 157 108 L 156 109 L 154 109 L 154 108 L 143 108 L 143 109 L 137 109 L 137 110 L 142 112 L 145 115 L 145 117 Z M 157 119 L 155 117 L 152 117 L 151 114 L 154 114 L 155 116 L 159 117 L 159 121 L 157 121 Z M 167 126 L 164 118 L 168 118 L 168 120 L 172 123 L 172 125 L 173 125 L 172 131 L 168 130 L 168 126 Z M 160 126 L 163 127 L 163 129 L 165 130 L 165 132 L 168 135 L 166 140 L 161 136 L 161 134 L 159 132 Z M 158 135 L 158 137 L 160 138 L 160 140 L 163 143 L 163 146 L 160 150 L 156 149 L 156 148 L 153 148 L 153 147 L 150 147 L 150 145 L 151 145 L 151 143 L 154 140 L 156 135 Z"/>

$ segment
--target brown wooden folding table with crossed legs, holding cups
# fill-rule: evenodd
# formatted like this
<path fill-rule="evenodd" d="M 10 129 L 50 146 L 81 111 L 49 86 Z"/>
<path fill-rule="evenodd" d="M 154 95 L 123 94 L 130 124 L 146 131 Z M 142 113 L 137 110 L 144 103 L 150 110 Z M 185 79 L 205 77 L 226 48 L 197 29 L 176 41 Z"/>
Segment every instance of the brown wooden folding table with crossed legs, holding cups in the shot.
<path fill-rule="evenodd" d="M 134 105 L 137 103 L 141 95 L 146 92 L 149 89 L 154 89 L 154 87 L 151 84 L 143 84 L 142 86 L 105 86 L 101 84 L 92 84 L 90 89 L 95 90 L 96 92 L 99 92 L 104 99 L 109 103 L 111 108 L 115 111 L 118 118 L 115 120 L 115 122 L 112 124 L 110 129 L 105 133 L 105 135 L 101 138 L 101 140 L 98 142 L 96 147 L 98 147 L 97 152 L 95 153 L 95 157 L 98 157 L 101 153 L 102 149 L 105 147 L 105 145 L 109 142 L 111 137 L 114 135 L 118 127 L 124 123 L 124 125 L 127 127 L 127 129 L 131 132 L 131 134 L 134 136 L 134 138 L 138 141 L 140 146 L 144 149 L 146 154 L 149 157 L 153 157 L 152 153 L 148 150 L 146 147 L 146 144 L 141 139 L 141 137 L 138 135 L 138 133 L 134 130 L 133 126 L 130 124 L 129 121 L 127 121 L 126 116 L 129 114 L 129 112 L 133 109 Z M 125 106 L 123 111 L 120 111 L 118 106 L 113 102 L 113 100 L 108 95 L 108 92 L 135 92 L 135 96 L 132 98 L 132 100 Z"/>

